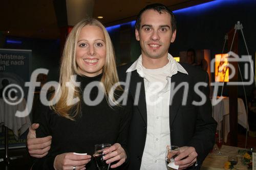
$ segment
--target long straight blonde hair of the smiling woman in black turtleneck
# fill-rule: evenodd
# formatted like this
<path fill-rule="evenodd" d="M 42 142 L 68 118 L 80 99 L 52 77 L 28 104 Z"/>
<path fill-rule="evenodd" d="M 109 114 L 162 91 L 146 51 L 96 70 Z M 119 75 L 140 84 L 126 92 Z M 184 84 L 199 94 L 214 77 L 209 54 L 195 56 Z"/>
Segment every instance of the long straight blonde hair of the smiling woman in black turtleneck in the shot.
<path fill-rule="evenodd" d="M 81 101 L 81 96 L 79 94 L 79 87 L 75 84 L 75 79 L 72 77 L 73 75 L 81 75 L 78 72 L 78 66 L 76 64 L 76 47 L 77 41 L 80 34 L 81 29 L 84 26 L 97 26 L 102 29 L 105 37 L 106 44 L 106 61 L 103 66 L 103 74 L 101 78 L 101 82 L 104 85 L 104 93 L 105 96 L 111 91 L 111 88 L 114 84 L 119 82 L 117 70 L 116 70 L 116 62 L 115 62 L 115 53 L 114 48 L 109 36 L 109 33 L 106 31 L 105 27 L 100 23 L 97 19 L 94 18 L 86 18 L 78 22 L 72 31 L 70 32 L 65 47 L 63 50 L 61 65 L 60 65 L 60 77 L 59 77 L 59 88 L 56 90 L 55 94 L 52 96 L 54 101 L 54 96 L 59 96 L 59 100 L 55 105 L 52 105 L 51 108 L 59 115 L 66 117 L 68 119 L 74 120 L 74 117 L 80 113 L 81 105 L 80 102 L 77 102 L 73 105 L 68 105 L 67 103 L 70 100 L 68 99 L 69 90 L 74 92 L 74 98 L 79 98 Z M 81 75 L 82 76 L 82 75 Z M 70 82 L 69 86 L 66 86 L 66 82 Z M 121 89 L 118 86 L 117 89 Z M 108 100 L 107 100 L 108 101 Z"/>

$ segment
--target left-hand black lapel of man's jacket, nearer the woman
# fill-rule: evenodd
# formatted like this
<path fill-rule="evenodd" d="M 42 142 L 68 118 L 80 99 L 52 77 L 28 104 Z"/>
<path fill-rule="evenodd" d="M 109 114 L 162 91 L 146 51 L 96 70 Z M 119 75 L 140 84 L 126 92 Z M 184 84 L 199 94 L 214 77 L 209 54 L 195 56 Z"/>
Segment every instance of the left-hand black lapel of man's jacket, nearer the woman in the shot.
<path fill-rule="evenodd" d="M 140 83 L 140 91 L 136 91 L 138 89 L 137 84 Z M 145 98 L 145 88 L 144 88 L 144 79 L 140 77 L 137 71 L 132 71 L 131 83 L 130 83 L 130 90 L 133 99 L 136 101 L 139 97 L 138 101 L 138 109 L 144 121 L 144 124 L 147 125 L 147 118 L 146 118 L 146 98 Z M 136 96 L 136 92 L 137 94 Z"/>

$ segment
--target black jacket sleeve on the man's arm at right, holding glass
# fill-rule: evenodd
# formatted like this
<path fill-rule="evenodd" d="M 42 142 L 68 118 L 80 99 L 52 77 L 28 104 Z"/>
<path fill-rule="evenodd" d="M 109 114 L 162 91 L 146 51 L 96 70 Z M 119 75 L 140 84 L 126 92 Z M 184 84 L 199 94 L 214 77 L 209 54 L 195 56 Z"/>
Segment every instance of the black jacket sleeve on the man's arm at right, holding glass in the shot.
<path fill-rule="evenodd" d="M 204 82 L 207 86 L 201 86 L 201 89 L 199 90 L 206 96 L 206 102 L 203 105 L 198 106 L 196 131 L 193 138 L 188 143 L 188 146 L 196 149 L 198 154 L 197 163 L 199 167 L 202 165 L 205 157 L 215 144 L 215 132 L 217 128 L 217 122 L 211 116 L 212 111 L 208 84 L 209 78 L 206 72 Z"/>

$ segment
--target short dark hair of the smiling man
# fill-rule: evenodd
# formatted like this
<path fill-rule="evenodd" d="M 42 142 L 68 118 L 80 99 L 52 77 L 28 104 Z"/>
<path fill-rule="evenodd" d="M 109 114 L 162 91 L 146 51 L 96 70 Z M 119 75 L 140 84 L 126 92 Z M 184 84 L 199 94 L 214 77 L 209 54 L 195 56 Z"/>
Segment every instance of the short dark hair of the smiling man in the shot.
<path fill-rule="evenodd" d="M 155 10 L 159 12 L 159 14 L 162 14 L 163 12 L 167 12 L 170 14 L 170 23 L 172 24 L 172 31 L 175 31 L 177 26 L 176 26 L 176 19 L 174 13 L 165 5 L 162 4 L 150 4 L 147 5 L 145 8 L 140 10 L 139 14 L 137 15 L 136 18 L 136 24 L 135 24 L 135 29 L 139 30 L 140 29 L 140 22 L 141 22 L 141 15 L 144 11 L 146 10 Z"/>

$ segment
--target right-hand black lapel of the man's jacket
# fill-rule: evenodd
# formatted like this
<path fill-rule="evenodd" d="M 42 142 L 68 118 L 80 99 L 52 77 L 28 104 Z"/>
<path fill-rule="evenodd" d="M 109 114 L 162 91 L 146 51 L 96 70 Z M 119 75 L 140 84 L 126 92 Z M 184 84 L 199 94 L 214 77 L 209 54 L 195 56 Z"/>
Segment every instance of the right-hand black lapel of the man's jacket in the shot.
<path fill-rule="evenodd" d="M 170 100 L 172 98 L 172 95 L 174 96 L 173 96 L 172 103 L 170 103 L 170 106 L 169 106 L 170 127 L 172 127 L 174 119 L 178 113 L 179 107 L 182 104 L 182 97 L 183 97 L 183 91 L 184 91 L 184 89 L 181 87 L 179 88 L 178 91 L 175 92 L 175 94 L 173 94 L 174 91 L 172 89 L 175 89 L 180 83 L 184 82 L 183 81 L 184 76 L 185 74 L 182 74 L 181 72 L 177 72 L 177 74 L 173 75 L 171 78 L 171 83 L 172 83 L 171 86 L 174 86 L 174 88 L 171 88 Z"/>

